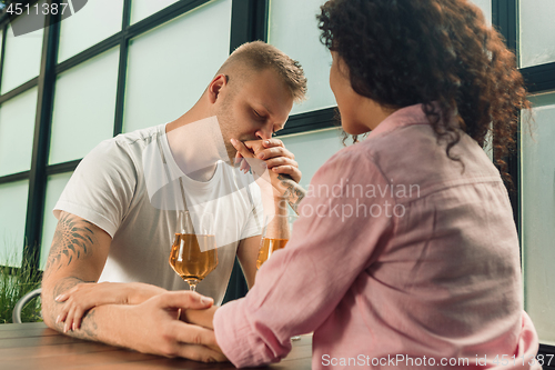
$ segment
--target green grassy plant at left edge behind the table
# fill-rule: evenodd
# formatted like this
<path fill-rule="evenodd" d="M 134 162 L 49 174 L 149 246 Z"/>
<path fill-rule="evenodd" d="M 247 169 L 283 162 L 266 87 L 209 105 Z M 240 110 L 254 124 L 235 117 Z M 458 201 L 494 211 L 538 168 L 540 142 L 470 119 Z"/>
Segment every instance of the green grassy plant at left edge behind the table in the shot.
<path fill-rule="evenodd" d="M 6 261 L 6 260 L 2 260 Z M 21 297 L 40 287 L 42 272 L 24 262 L 21 268 L 0 267 L 0 323 L 12 322 L 13 307 Z M 42 321 L 40 298 L 21 311 L 23 322 Z"/>

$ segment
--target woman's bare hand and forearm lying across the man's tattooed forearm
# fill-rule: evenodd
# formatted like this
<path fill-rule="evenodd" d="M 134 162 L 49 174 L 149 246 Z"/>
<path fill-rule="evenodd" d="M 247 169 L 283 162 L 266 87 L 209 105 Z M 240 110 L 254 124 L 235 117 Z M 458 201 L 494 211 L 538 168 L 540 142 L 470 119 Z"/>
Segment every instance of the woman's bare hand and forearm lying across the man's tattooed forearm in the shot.
<path fill-rule="evenodd" d="M 80 283 L 56 298 L 63 307 L 56 322 L 65 322 L 63 331 L 81 327 L 84 313 L 102 304 L 140 304 L 143 301 L 167 292 L 165 289 L 145 283 Z"/>

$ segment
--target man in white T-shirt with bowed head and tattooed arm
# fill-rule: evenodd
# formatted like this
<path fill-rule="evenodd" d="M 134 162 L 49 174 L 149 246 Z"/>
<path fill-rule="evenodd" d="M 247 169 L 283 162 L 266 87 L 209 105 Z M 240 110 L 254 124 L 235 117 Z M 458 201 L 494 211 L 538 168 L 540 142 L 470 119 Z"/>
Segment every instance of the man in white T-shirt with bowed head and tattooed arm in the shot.
<path fill-rule="evenodd" d="M 54 209 L 59 223 L 42 281 L 44 322 L 70 336 L 144 352 L 221 360 L 209 348 L 215 343 L 213 333 L 175 320 L 179 308 L 210 307 L 212 300 L 194 293 L 149 298 L 188 288 L 168 264 L 180 202 L 195 210 L 208 207 L 218 234 L 224 236 L 219 267 L 199 291 L 220 302 L 235 254 L 253 284 L 263 199 L 252 176 L 223 160 L 240 157 L 232 139 L 263 140 L 248 146 L 273 179 L 290 177 L 282 178 L 275 199 L 285 196 L 295 207 L 301 197 L 287 187 L 301 173 L 293 154 L 271 136 L 283 128 L 305 89 L 297 62 L 272 46 L 248 43 L 230 56 L 182 117 L 107 140 L 88 154 Z M 141 330 L 133 332 L 138 323 Z"/>

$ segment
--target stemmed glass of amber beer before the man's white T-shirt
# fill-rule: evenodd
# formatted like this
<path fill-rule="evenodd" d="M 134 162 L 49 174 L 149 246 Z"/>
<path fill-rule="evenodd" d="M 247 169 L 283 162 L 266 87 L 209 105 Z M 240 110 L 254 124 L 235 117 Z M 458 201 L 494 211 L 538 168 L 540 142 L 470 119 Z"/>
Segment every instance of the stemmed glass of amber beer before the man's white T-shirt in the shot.
<path fill-rule="evenodd" d="M 179 212 L 170 266 L 189 283 L 192 291 L 216 268 L 218 248 L 212 213 L 196 216 L 189 211 Z"/>

